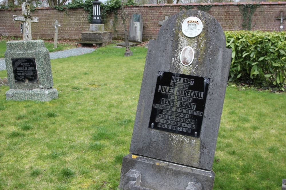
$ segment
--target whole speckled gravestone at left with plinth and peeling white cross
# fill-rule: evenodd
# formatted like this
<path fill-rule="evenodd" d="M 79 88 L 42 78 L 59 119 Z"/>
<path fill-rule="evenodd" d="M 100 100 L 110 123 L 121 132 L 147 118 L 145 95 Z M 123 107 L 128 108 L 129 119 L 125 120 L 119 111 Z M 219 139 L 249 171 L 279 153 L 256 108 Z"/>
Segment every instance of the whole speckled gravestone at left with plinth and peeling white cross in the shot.
<path fill-rule="evenodd" d="M 28 21 L 31 18 L 29 4 L 22 3 L 23 8 L 27 8 L 25 11 L 27 11 L 26 20 Z M 21 16 L 17 17 L 21 18 Z M 32 39 L 31 25 L 26 25 L 29 27 L 24 27 L 26 28 L 23 32 L 24 39 Z M 45 48 L 43 40 L 8 41 L 5 64 L 9 82 L 6 100 L 49 101 L 58 97 L 57 89 L 52 88 L 49 51 Z"/>

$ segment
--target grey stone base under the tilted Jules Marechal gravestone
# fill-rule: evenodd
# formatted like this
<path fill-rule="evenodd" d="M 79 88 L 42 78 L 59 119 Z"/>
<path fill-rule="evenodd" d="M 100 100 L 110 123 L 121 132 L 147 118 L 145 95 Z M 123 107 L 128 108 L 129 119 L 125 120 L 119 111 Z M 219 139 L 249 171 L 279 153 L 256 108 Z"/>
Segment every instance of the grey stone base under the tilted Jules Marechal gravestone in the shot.
<path fill-rule="evenodd" d="M 134 171 L 138 171 L 138 174 L 132 174 Z M 215 173 L 212 170 L 128 154 L 122 161 L 119 189 L 211 190 L 214 180 Z"/>

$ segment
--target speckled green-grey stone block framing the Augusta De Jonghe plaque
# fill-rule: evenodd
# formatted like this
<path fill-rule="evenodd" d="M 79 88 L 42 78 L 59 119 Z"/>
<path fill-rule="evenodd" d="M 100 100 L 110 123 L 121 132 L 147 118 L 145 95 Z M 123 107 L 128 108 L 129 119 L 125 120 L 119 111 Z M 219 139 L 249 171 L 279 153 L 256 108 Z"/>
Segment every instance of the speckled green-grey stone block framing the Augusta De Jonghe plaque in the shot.
<path fill-rule="evenodd" d="M 53 87 L 49 51 L 43 40 L 20 40 L 6 43 L 5 64 L 10 89 L 48 89 Z M 35 58 L 37 82 L 16 83 L 12 58 Z"/>

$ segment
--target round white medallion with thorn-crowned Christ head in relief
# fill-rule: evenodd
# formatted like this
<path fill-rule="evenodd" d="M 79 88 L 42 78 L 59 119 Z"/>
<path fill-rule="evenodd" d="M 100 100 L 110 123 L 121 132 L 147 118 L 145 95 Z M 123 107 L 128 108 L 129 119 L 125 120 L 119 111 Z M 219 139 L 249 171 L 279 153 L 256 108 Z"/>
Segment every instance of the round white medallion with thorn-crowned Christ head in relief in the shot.
<path fill-rule="evenodd" d="M 182 32 L 185 36 L 194 38 L 202 32 L 202 21 L 197 17 L 188 17 L 182 24 Z"/>

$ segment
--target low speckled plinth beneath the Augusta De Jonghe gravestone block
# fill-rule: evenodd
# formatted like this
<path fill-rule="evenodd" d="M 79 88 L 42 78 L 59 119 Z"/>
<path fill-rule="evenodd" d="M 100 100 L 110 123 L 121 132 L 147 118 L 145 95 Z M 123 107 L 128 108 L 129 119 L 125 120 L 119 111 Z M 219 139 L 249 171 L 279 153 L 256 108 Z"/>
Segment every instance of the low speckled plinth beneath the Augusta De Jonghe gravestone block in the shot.
<path fill-rule="evenodd" d="M 37 100 L 50 101 L 58 98 L 57 89 L 33 89 L 33 90 L 14 90 L 10 89 L 6 92 L 6 100 Z"/>

